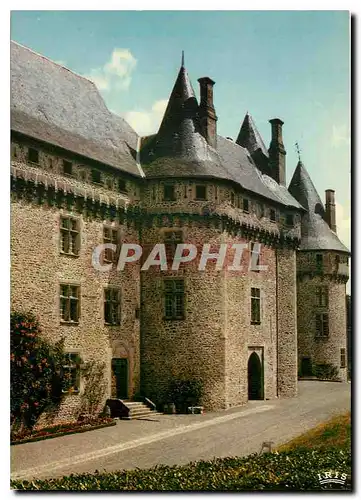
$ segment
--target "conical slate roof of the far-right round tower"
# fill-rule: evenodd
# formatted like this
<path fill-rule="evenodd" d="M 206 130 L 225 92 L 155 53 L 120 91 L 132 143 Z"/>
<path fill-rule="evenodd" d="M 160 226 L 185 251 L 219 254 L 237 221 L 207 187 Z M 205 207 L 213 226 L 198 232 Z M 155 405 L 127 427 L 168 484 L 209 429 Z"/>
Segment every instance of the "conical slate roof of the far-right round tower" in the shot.
<path fill-rule="evenodd" d="M 288 190 L 307 209 L 301 222 L 300 250 L 336 250 L 349 253 L 324 220 L 325 208 L 301 161 L 297 164 Z"/>

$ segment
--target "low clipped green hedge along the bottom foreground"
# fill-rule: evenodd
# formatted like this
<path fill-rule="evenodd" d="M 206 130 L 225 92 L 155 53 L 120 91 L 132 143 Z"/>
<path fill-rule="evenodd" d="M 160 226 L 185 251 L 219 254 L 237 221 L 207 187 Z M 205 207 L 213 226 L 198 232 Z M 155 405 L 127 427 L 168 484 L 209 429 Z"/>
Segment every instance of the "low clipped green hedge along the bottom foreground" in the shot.
<path fill-rule="evenodd" d="M 317 474 L 329 470 L 347 473 L 350 478 L 348 447 L 301 448 L 184 466 L 160 465 L 152 469 L 72 474 L 60 479 L 11 481 L 11 487 L 66 491 L 319 491 Z"/>

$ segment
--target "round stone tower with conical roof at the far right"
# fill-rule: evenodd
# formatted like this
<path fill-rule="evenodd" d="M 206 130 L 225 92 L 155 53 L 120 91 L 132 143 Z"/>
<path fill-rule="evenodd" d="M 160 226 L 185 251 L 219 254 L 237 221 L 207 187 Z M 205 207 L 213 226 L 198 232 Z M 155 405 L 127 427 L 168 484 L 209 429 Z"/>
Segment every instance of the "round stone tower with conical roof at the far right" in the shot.
<path fill-rule="evenodd" d="M 299 374 L 346 381 L 350 253 L 336 234 L 335 193 L 326 191 L 324 206 L 301 161 L 289 191 L 307 209 L 297 253 Z"/>

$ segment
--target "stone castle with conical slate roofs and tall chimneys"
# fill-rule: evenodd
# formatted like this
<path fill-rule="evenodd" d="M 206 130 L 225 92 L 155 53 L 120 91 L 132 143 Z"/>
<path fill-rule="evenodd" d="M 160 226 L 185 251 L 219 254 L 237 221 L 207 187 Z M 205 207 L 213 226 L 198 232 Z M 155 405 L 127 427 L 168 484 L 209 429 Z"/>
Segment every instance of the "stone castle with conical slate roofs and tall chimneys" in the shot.
<path fill-rule="evenodd" d="M 139 137 L 94 83 L 11 43 L 11 303 L 64 341 L 59 418 L 107 398 L 168 402 L 174 379 L 200 381 L 210 410 L 296 396 L 298 373 L 324 363 L 347 379 L 334 191 L 324 204 L 301 161 L 286 187 L 278 118 L 268 149 L 248 113 L 236 141 L 219 136 L 214 82 L 198 82 L 199 103 L 182 62 L 158 132 Z M 103 243 L 139 244 L 142 259 L 118 270 L 107 249 L 101 272 Z M 158 243 L 167 258 L 179 243 L 243 244 L 246 264 L 259 243 L 264 270 L 234 270 L 232 250 L 220 269 L 198 255 L 141 270 Z"/>

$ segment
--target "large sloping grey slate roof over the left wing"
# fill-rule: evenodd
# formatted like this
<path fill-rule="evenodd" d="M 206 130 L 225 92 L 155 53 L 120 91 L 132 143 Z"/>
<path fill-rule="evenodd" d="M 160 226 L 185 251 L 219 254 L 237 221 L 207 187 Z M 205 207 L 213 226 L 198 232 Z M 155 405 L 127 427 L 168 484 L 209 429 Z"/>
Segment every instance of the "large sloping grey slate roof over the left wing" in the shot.
<path fill-rule="evenodd" d="M 11 42 L 11 128 L 132 175 L 137 134 L 90 80 Z"/>

